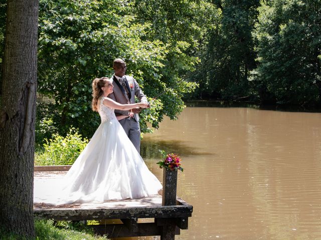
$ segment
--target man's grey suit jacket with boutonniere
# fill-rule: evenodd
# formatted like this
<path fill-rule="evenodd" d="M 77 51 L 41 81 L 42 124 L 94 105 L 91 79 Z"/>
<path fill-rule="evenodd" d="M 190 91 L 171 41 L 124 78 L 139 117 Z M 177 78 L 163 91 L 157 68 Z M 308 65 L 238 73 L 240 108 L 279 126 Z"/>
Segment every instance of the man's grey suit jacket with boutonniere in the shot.
<path fill-rule="evenodd" d="M 128 82 L 128 87 L 130 90 L 130 98 L 128 98 L 127 94 L 123 92 L 123 90 L 119 87 L 119 85 L 115 82 L 118 81 L 114 75 L 111 77 L 113 80 L 112 84 L 114 85 L 113 87 L 113 92 L 108 95 L 109 98 L 113 99 L 114 101 L 117 101 L 121 104 L 127 104 L 127 103 L 135 103 L 135 96 L 139 99 L 140 102 L 147 102 L 147 98 L 140 89 L 137 81 L 132 77 L 125 75 L 127 82 Z M 127 110 L 118 110 L 115 109 L 115 114 L 116 115 L 128 115 L 129 111 Z M 134 114 L 135 120 L 138 122 L 139 116 L 137 113 Z"/>

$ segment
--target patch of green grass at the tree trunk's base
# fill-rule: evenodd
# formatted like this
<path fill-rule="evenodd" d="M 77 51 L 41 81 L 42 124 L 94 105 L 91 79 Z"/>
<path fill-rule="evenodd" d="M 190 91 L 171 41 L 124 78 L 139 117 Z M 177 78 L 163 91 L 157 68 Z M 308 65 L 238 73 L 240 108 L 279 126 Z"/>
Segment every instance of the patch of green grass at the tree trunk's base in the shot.
<path fill-rule="evenodd" d="M 95 236 L 90 228 L 60 223 L 60 227 L 54 226 L 53 220 L 35 219 L 36 237 L 34 239 L 19 236 L 14 233 L 5 232 L 0 229 L 2 240 L 107 240 L 105 236 Z"/>

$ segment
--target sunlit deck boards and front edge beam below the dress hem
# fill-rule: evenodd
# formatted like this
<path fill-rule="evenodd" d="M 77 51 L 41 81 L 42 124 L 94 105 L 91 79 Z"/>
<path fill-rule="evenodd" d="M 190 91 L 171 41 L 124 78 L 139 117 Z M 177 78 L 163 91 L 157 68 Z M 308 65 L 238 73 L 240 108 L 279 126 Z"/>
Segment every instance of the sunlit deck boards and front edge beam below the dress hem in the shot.
<path fill-rule="evenodd" d="M 188 217 L 192 211 L 193 206 L 181 198 L 177 199 L 177 205 L 162 206 L 161 195 L 102 203 L 34 204 L 35 216 L 55 220 Z"/>

